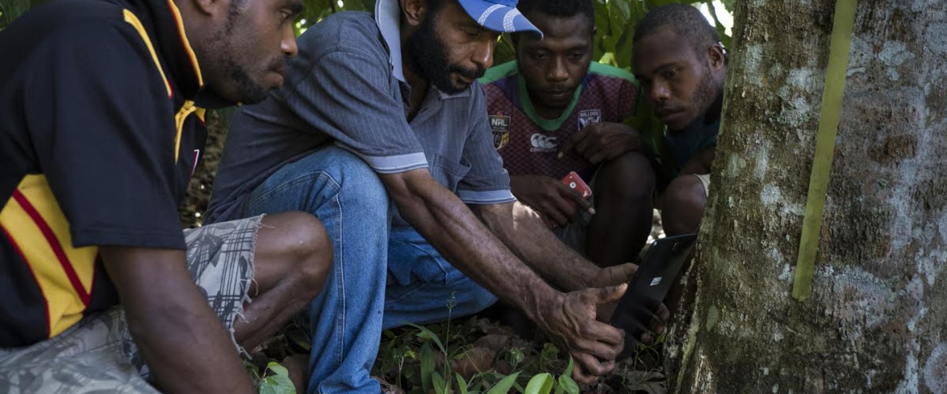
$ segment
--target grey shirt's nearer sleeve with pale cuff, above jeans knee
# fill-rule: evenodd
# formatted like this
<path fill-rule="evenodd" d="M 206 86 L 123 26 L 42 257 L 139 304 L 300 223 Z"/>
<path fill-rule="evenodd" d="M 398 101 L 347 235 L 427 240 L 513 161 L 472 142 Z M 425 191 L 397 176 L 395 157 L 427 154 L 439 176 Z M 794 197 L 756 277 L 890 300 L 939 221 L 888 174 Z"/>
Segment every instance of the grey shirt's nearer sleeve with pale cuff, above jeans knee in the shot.
<path fill-rule="evenodd" d="M 382 174 L 428 166 L 387 60 L 341 48 L 304 64 L 306 77 L 284 92 L 307 127 L 329 134 Z"/>

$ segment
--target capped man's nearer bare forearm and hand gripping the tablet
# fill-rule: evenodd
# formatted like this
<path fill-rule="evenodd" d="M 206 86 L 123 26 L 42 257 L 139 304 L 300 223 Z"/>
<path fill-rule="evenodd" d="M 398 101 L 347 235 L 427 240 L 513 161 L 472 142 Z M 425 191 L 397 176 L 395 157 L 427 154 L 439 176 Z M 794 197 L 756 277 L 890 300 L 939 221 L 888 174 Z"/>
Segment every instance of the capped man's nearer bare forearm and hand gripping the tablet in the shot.
<path fill-rule="evenodd" d="M 573 376 L 592 382 L 615 368 L 624 333 L 596 321 L 599 304 L 621 298 L 626 286 L 563 294 L 545 283 L 501 243 L 427 169 L 381 176 L 402 216 L 452 265 L 527 314 L 578 360 Z M 587 373 L 586 373 L 587 372 Z"/>

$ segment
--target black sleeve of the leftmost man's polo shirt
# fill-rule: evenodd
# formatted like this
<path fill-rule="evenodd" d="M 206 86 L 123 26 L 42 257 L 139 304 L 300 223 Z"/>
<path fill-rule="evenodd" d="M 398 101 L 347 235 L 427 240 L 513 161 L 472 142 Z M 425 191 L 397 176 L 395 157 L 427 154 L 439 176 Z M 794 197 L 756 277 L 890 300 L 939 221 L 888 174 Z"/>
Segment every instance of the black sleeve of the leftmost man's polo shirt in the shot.
<path fill-rule="evenodd" d="M 25 119 L 38 172 L 73 246 L 185 248 L 169 88 L 132 26 L 61 29 L 25 71 Z"/>

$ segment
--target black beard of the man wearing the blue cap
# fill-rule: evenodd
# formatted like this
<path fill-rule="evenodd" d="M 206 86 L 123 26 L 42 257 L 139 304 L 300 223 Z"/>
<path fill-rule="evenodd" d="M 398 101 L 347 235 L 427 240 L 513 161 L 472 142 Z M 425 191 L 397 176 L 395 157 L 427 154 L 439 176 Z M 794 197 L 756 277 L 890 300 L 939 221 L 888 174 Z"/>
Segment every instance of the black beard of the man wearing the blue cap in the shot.
<path fill-rule="evenodd" d="M 447 44 L 445 44 L 434 26 L 437 12 L 429 13 L 421 22 L 418 30 L 412 33 L 405 41 L 405 46 L 411 56 L 414 71 L 427 79 L 439 91 L 445 94 L 458 94 L 470 85 L 461 83 L 456 85 L 451 80 L 451 74 L 456 73 L 468 79 L 483 77 L 482 67 L 474 69 L 452 64 L 448 60 Z"/>

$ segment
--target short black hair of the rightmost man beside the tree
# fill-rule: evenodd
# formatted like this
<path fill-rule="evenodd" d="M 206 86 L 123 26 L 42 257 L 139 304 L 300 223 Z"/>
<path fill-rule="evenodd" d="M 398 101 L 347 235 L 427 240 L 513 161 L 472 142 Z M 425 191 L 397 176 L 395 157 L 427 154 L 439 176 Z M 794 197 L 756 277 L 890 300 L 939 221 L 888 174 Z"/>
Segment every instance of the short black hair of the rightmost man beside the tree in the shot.
<path fill-rule="evenodd" d="M 648 11 L 637 26 L 634 26 L 634 43 L 637 43 L 663 28 L 670 28 L 703 53 L 706 48 L 720 43 L 720 33 L 710 26 L 701 11 L 686 4 L 669 4 Z"/>

